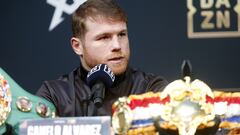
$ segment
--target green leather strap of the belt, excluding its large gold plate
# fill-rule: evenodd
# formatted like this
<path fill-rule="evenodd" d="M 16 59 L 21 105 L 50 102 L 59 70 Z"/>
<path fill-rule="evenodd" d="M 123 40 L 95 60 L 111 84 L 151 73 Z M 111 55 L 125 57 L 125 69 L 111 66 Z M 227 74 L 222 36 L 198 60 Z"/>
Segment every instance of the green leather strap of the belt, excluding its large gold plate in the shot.
<path fill-rule="evenodd" d="M 25 119 L 42 119 L 55 117 L 56 109 L 52 103 L 38 96 L 28 93 L 21 88 L 2 68 L 0 75 L 8 83 L 11 91 L 11 111 L 4 124 L 0 126 L 0 134 L 6 132 L 6 123 L 11 125 L 16 134 L 19 130 L 19 122 Z M 19 103 L 17 106 L 17 103 Z M 1 104 L 1 103 L 0 103 Z M 28 108 L 24 110 L 24 108 Z M 0 114 L 2 115 L 2 114 Z"/>

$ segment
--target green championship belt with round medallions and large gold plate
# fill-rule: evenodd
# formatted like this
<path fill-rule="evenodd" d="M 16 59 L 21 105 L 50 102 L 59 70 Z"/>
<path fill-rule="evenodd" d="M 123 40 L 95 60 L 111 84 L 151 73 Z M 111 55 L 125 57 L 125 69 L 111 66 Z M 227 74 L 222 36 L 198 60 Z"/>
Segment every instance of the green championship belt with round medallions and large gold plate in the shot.
<path fill-rule="evenodd" d="M 0 68 L 0 134 L 8 132 L 8 126 L 11 134 L 18 134 L 20 121 L 52 118 L 55 111 L 52 103 L 28 93 Z"/>

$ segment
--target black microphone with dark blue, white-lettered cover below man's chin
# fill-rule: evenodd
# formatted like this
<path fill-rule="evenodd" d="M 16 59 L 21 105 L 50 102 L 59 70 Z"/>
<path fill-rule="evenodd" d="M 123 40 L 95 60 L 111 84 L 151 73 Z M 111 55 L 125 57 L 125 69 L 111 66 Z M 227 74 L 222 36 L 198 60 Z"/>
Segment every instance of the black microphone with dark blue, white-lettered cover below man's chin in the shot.
<path fill-rule="evenodd" d="M 105 97 L 105 89 L 110 88 L 115 80 L 112 70 L 105 64 L 92 68 L 87 75 L 87 84 L 92 90 L 93 103 L 100 108 Z"/>

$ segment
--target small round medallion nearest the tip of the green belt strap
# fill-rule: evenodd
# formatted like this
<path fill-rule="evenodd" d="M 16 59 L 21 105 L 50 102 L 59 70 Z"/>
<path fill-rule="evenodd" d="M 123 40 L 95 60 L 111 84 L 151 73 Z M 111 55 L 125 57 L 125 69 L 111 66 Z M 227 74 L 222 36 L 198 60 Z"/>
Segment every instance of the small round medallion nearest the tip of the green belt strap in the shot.
<path fill-rule="evenodd" d="M 44 104 L 44 103 L 38 103 L 37 107 L 36 107 L 36 112 L 38 113 L 38 115 L 40 115 L 41 117 L 49 117 L 51 114 L 51 110 L 50 108 Z"/>

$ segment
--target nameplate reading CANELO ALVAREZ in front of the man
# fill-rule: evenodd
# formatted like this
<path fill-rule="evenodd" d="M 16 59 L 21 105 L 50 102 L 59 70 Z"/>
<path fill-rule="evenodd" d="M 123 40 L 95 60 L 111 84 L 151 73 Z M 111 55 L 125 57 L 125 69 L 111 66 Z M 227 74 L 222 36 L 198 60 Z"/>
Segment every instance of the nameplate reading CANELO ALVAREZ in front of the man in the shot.
<path fill-rule="evenodd" d="M 110 117 L 66 117 L 24 120 L 20 135 L 110 135 Z"/>

